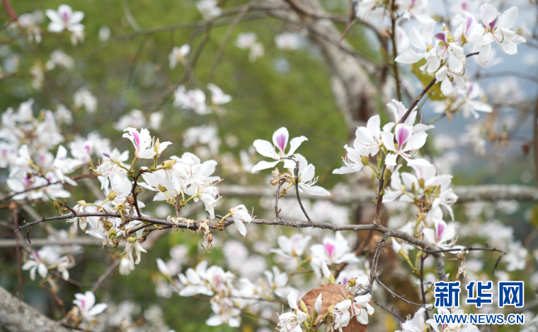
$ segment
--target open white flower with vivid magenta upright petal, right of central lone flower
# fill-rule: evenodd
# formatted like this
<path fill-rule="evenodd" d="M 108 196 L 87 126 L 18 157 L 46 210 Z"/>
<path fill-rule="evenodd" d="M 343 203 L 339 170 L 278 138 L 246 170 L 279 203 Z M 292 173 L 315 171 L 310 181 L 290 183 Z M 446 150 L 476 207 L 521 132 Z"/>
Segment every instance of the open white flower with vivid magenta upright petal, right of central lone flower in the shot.
<path fill-rule="evenodd" d="M 409 165 L 429 166 L 430 162 L 424 159 L 411 159 L 416 150 L 422 148 L 426 143 L 426 134 L 424 131 L 413 134 L 413 128 L 408 124 L 398 124 L 394 130 L 394 134 L 389 131 L 382 131 L 381 137 L 383 144 L 392 153 L 389 153 L 385 158 L 385 164 L 396 166 L 396 158 L 401 155 Z M 394 143 L 396 141 L 396 143 Z M 411 151 L 411 153 L 408 153 Z"/>

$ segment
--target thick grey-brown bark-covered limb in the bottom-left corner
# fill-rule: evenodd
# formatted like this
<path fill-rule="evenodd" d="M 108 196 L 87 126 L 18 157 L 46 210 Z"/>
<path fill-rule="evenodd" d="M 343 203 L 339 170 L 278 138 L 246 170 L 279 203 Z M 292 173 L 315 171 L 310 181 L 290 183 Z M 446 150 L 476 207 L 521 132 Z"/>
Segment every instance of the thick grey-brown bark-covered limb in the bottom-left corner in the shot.
<path fill-rule="evenodd" d="M 11 332 L 69 332 L 0 287 L 0 325 Z"/>

